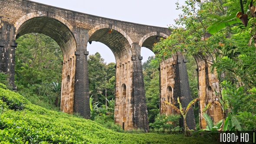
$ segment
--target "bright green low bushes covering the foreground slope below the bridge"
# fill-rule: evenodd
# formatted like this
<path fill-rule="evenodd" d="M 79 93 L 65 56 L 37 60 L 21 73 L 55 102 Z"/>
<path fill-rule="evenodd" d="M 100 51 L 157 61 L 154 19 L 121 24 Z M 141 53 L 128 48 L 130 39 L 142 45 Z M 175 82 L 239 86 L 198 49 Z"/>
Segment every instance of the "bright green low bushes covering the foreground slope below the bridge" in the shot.
<path fill-rule="evenodd" d="M 184 134 L 119 133 L 79 116 L 47 110 L 0 88 L 0 144 L 204 144 Z M 205 140 L 205 141 L 204 141 Z"/>

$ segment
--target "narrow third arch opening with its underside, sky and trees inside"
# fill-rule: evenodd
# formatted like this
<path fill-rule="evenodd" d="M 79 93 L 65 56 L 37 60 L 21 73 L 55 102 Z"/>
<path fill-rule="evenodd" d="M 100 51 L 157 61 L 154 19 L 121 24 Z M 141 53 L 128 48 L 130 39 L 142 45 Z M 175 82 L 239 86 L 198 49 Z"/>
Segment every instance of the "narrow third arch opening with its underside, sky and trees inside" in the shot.
<path fill-rule="evenodd" d="M 161 107 L 160 101 L 167 101 L 167 98 L 160 97 L 161 86 L 158 67 L 150 65 L 151 60 L 153 60 L 155 56 L 153 52 L 154 43 L 158 43 L 161 38 L 164 38 L 163 36 L 164 35 L 159 36 L 158 33 L 152 32 L 142 37 L 139 42 L 141 46 L 140 54 L 143 56 L 142 69 L 149 123 L 154 123 L 155 118 L 157 118 L 159 112 L 161 112 L 159 109 Z M 154 106 L 152 107 L 152 105 Z"/>

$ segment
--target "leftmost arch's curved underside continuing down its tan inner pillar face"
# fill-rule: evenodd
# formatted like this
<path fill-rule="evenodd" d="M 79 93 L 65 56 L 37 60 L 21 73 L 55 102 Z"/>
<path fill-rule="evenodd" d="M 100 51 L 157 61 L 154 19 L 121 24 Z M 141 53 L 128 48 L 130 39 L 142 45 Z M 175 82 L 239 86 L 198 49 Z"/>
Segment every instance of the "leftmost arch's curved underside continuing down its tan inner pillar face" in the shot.
<path fill-rule="evenodd" d="M 31 14 L 30 14 L 31 15 Z M 75 51 L 76 41 L 72 28 L 65 20 L 62 23 L 53 16 L 46 14 L 36 14 L 28 17 L 23 16 L 16 22 L 16 39 L 27 33 L 42 33 L 45 34 L 58 43 L 63 54 L 62 65 L 62 86 L 61 86 L 61 104 L 60 109 L 63 112 L 73 113 L 73 98 L 75 85 Z M 58 17 L 58 19 L 61 19 Z"/>

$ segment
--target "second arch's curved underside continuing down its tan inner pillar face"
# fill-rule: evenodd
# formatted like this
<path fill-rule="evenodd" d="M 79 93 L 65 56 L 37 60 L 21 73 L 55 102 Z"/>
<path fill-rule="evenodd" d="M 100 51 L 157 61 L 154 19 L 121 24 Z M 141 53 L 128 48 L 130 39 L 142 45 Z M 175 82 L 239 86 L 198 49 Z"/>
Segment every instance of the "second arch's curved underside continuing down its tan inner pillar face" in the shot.
<path fill-rule="evenodd" d="M 130 121 L 127 116 L 127 111 L 131 111 L 131 107 L 128 105 L 128 101 L 131 100 L 132 92 L 132 50 L 131 39 L 128 35 L 124 35 L 125 32 L 121 31 L 115 26 L 109 29 L 109 26 L 98 26 L 95 29 L 89 31 L 89 44 L 100 42 L 108 46 L 115 56 L 115 112 L 114 121 L 129 129 L 131 125 L 127 122 Z M 94 42 L 95 41 L 95 42 Z M 89 78 L 90 79 L 90 78 Z M 125 85 L 123 85 L 125 84 Z"/>

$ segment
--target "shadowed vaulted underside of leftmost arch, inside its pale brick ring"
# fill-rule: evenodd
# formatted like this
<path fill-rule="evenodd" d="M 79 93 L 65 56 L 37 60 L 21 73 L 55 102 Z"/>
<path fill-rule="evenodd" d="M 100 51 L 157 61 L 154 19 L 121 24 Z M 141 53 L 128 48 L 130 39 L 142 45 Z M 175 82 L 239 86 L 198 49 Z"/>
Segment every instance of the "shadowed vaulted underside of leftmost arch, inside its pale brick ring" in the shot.
<path fill-rule="evenodd" d="M 76 42 L 71 30 L 54 18 L 39 16 L 26 20 L 16 29 L 16 39 L 27 33 L 43 33 L 54 39 L 62 49 L 64 61 L 68 60 L 76 50 Z"/>

